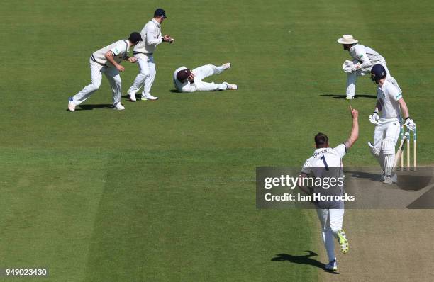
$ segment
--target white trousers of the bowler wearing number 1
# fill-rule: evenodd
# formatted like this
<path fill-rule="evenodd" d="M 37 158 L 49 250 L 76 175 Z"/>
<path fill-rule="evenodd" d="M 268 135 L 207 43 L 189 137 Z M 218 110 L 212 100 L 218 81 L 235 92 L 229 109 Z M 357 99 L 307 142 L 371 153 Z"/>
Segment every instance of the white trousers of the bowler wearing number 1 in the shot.
<path fill-rule="evenodd" d="M 321 222 L 321 235 L 327 251 L 328 261 L 336 259 L 335 232 L 342 229 L 344 209 L 317 208 L 316 213 Z"/>

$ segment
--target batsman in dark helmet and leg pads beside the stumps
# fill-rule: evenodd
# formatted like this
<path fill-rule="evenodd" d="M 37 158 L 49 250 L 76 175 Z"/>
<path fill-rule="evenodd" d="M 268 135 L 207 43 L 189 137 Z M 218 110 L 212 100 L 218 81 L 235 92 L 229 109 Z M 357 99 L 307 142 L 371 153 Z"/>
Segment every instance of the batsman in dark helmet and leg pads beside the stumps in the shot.
<path fill-rule="evenodd" d="M 408 114 L 406 101 L 402 91 L 393 77 L 387 75 L 382 64 L 375 64 L 371 69 L 371 79 L 377 88 L 377 104 L 374 113 L 369 115 L 369 121 L 374 123 L 374 144 L 368 143 L 370 150 L 383 170 L 385 184 L 396 183 L 396 174 L 392 175 L 395 160 L 395 145 L 399 138 L 402 118 L 408 130 L 414 130 L 416 124 Z M 379 113 L 381 112 L 381 117 Z"/>

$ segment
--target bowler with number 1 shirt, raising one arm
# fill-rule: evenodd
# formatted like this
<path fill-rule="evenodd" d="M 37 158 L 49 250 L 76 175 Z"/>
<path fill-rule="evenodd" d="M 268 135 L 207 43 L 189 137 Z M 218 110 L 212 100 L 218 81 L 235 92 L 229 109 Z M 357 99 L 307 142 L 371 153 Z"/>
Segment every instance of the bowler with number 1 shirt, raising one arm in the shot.
<path fill-rule="evenodd" d="M 306 186 L 303 186 L 303 179 L 309 174 L 315 177 L 323 177 L 329 171 L 332 171 L 332 176 L 336 179 L 343 178 L 342 158 L 346 152 L 352 147 L 359 137 L 359 123 L 357 110 L 350 108 L 352 116 L 352 130 L 350 137 L 337 147 L 328 147 L 328 137 L 323 133 L 318 133 L 315 136 L 316 150 L 312 157 L 306 159 L 300 174 L 300 188 L 306 193 L 311 193 Z M 322 189 L 322 192 L 329 191 Z M 343 186 L 334 187 L 331 192 L 335 196 L 342 196 Z M 321 193 L 323 194 L 323 193 Z M 334 238 L 338 239 L 340 251 L 343 254 L 348 252 L 349 244 L 343 227 L 344 203 L 343 201 L 317 201 L 316 212 L 318 219 L 321 222 L 321 235 L 323 238 L 325 250 L 327 251 L 329 263 L 325 265 L 325 269 L 335 271 L 338 269 L 338 263 L 335 256 Z"/>

